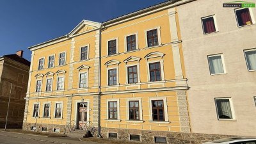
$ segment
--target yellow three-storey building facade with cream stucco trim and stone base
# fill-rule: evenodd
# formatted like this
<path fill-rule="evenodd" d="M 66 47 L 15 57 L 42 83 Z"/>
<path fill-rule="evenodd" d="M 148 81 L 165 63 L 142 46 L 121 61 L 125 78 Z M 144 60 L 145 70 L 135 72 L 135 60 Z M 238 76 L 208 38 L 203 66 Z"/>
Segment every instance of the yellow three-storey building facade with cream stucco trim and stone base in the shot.
<path fill-rule="evenodd" d="M 93 125 L 96 133 L 100 125 L 104 138 L 140 141 L 190 132 L 172 1 L 102 24 L 83 20 L 68 35 L 29 49 L 23 129 L 67 133 Z"/>

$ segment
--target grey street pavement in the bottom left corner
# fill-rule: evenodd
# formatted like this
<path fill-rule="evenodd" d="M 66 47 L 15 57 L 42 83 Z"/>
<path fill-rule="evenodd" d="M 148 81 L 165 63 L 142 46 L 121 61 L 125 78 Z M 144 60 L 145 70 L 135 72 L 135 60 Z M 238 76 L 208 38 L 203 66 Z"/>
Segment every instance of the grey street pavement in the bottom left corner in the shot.
<path fill-rule="evenodd" d="M 75 138 L 69 137 L 47 137 L 47 136 L 36 136 L 33 134 L 20 134 L 15 132 L 0 131 L 0 144 L 99 144 L 89 141 L 79 141 Z"/>

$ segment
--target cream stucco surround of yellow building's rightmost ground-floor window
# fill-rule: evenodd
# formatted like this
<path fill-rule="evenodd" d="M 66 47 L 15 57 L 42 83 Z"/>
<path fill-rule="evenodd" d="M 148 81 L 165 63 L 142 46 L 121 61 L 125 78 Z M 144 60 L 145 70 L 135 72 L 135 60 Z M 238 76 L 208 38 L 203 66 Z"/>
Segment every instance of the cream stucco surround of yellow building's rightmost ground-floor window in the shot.
<path fill-rule="evenodd" d="M 166 97 L 149 97 L 148 98 L 148 104 L 149 104 L 149 114 L 150 114 L 150 122 L 156 122 L 156 123 L 170 123 L 168 120 L 168 106 L 167 106 L 167 99 Z M 153 112 L 152 112 L 152 100 L 163 100 L 164 104 L 164 121 L 156 121 L 153 120 Z"/>

